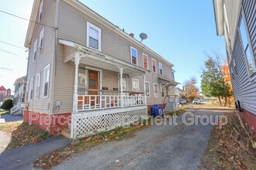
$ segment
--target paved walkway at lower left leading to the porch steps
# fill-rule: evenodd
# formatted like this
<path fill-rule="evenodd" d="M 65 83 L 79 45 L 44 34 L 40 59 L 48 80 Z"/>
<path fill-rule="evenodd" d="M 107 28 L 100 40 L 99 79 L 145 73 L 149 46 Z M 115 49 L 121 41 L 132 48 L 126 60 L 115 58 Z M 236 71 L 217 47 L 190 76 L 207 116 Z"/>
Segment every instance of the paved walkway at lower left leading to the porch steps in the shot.
<path fill-rule="evenodd" d="M 31 164 L 36 158 L 67 145 L 70 145 L 70 140 L 60 135 L 33 145 L 4 151 L 0 153 L 0 169 L 32 169 Z M 22 161 L 17 162 L 18 160 Z"/>

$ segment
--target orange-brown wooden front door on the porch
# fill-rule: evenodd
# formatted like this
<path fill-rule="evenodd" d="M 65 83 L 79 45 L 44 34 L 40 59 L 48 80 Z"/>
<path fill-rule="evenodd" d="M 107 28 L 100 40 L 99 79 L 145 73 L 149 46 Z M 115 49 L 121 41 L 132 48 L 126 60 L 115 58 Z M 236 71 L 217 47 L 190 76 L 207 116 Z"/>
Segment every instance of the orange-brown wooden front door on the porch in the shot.
<path fill-rule="evenodd" d="M 98 71 L 88 70 L 88 89 L 99 89 Z M 98 91 L 88 91 L 88 95 L 98 95 Z M 91 97 L 91 105 L 95 105 L 95 97 Z M 98 103 L 98 102 L 97 102 Z"/>

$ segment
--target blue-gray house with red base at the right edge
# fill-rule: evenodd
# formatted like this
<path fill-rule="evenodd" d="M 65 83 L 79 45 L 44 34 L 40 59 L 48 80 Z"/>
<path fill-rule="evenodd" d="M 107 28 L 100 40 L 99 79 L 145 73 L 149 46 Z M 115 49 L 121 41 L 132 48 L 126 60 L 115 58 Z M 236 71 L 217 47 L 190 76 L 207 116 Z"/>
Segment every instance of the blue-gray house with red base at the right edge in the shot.
<path fill-rule="evenodd" d="M 213 0 L 217 36 L 224 36 L 237 110 L 256 131 L 256 1 Z"/>

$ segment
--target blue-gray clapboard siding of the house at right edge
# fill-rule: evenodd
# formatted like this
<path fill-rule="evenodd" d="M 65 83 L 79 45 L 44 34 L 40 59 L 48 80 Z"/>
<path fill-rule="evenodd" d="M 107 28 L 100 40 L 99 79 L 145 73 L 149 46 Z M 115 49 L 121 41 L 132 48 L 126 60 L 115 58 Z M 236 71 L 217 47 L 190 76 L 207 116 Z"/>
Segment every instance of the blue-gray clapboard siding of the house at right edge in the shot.
<path fill-rule="evenodd" d="M 231 75 L 232 85 L 234 89 L 235 100 L 240 100 L 241 107 L 245 110 L 256 114 L 256 80 L 250 80 L 247 73 L 247 66 L 244 58 L 244 49 L 240 36 L 237 32 L 237 26 L 241 15 L 240 7 L 244 5 L 245 20 L 249 32 L 254 57 L 256 55 L 256 2 L 254 0 L 234 1 L 226 0 L 224 3 L 227 6 L 227 18 L 230 25 L 230 42 L 232 43 L 232 51 L 228 50 L 232 59 L 235 59 L 236 73 Z M 237 15 L 235 15 L 237 14 Z M 228 48 L 227 48 L 228 49 Z M 230 65 L 230 68 L 233 66 Z"/>

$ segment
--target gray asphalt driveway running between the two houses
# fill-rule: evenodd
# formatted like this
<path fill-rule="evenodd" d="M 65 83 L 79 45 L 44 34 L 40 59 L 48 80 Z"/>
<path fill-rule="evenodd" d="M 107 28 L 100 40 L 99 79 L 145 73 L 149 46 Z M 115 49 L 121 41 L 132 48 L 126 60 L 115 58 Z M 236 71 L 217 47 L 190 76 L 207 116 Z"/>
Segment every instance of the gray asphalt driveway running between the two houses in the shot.
<path fill-rule="evenodd" d="M 189 111 L 214 117 L 227 112 Z M 213 125 L 202 125 L 200 121 L 198 125 L 185 125 L 182 115 L 177 124 L 150 126 L 118 141 L 102 143 L 54 169 L 198 169 Z"/>

